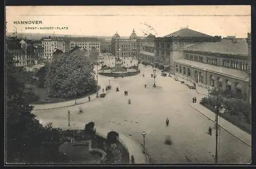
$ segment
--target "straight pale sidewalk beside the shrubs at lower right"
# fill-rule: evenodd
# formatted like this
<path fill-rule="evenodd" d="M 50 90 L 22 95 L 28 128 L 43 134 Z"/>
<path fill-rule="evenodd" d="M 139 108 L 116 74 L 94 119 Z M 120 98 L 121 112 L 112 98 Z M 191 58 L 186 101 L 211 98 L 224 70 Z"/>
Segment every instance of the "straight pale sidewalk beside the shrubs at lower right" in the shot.
<path fill-rule="evenodd" d="M 216 114 L 207 108 L 203 107 L 199 103 L 190 103 L 189 106 L 193 107 L 195 110 L 206 116 L 207 118 L 211 119 L 213 122 L 215 122 L 215 116 Z M 218 124 L 228 131 L 230 134 L 234 135 L 241 141 L 247 144 L 247 146 L 251 147 L 251 135 L 240 129 L 239 127 L 231 124 L 221 116 L 218 116 Z"/>

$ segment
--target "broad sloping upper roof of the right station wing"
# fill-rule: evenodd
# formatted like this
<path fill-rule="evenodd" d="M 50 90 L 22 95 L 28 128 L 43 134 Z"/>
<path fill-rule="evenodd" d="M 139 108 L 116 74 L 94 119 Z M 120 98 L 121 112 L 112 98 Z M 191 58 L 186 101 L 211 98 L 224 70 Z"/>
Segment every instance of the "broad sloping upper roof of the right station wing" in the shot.
<path fill-rule="evenodd" d="M 212 52 L 232 55 L 248 55 L 246 39 L 222 39 L 219 42 L 202 42 L 184 49 L 185 51 Z"/>

